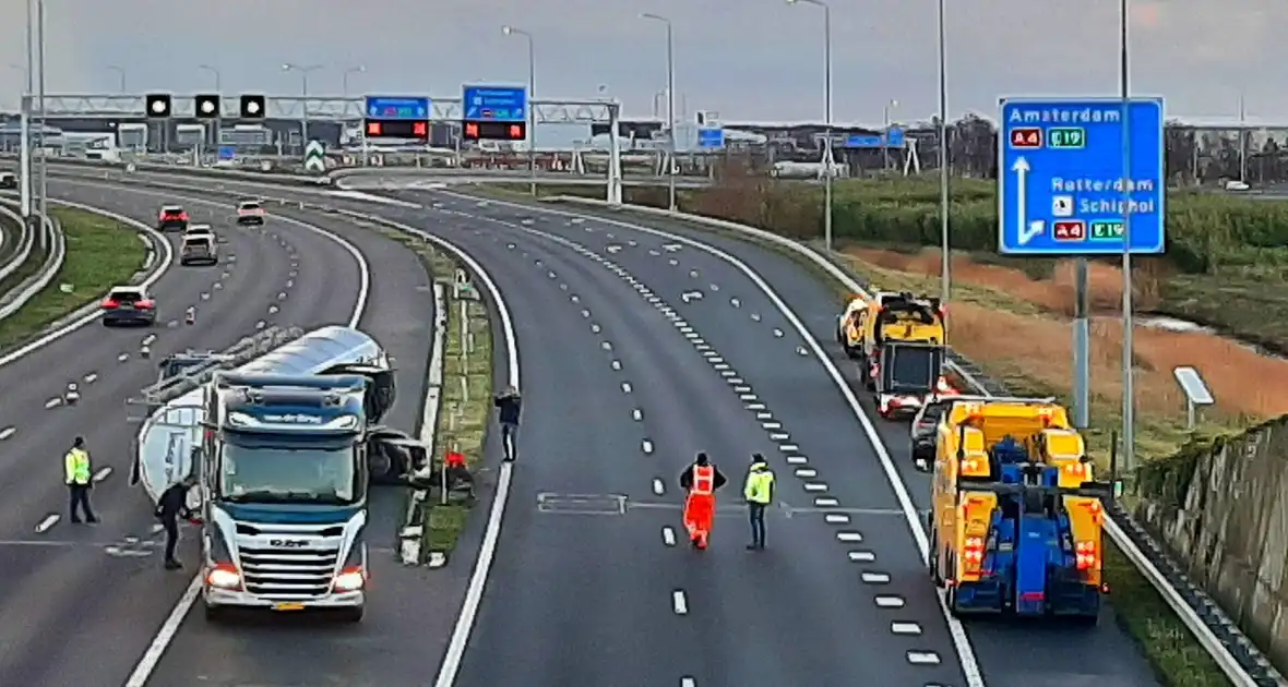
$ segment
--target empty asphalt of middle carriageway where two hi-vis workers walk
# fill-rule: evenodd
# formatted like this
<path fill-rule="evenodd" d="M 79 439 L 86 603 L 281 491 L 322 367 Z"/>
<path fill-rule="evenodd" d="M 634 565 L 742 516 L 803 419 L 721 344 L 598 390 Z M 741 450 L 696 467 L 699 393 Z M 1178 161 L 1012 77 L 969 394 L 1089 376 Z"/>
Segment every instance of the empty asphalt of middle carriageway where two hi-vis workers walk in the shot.
<path fill-rule="evenodd" d="M 923 575 L 859 582 L 851 552 L 893 574 L 916 567 L 912 538 L 823 368 L 773 333 L 786 324 L 768 298 L 657 237 L 524 216 L 446 199 L 420 220 L 493 274 L 526 362 L 510 511 L 457 684 L 960 684 L 929 596 L 873 601 Z M 685 302 L 693 291 L 703 300 Z M 730 477 L 705 553 L 683 542 L 676 485 L 698 450 Z M 752 452 L 796 508 L 770 516 L 764 553 L 743 549 Z"/>

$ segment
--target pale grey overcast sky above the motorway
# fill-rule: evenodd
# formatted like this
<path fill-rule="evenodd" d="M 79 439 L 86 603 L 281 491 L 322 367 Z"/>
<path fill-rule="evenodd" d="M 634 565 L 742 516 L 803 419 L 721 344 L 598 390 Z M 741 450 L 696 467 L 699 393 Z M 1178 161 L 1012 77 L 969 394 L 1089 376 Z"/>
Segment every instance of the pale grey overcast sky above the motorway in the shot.
<path fill-rule="evenodd" d="M 832 0 L 835 118 L 880 124 L 935 112 L 936 0 Z M 1132 0 L 1132 80 L 1170 116 L 1248 111 L 1288 121 L 1284 0 Z M 1115 0 L 948 0 L 949 109 L 992 116 L 1001 95 L 1117 93 Z M 26 0 L 0 0 L 0 103 L 17 102 Z M 783 0 L 46 0 L 49 93 L 298 94 L 283 62 L 325 64 L 310 91 L 459 96 L 460 85 L 527 81 L 536 37 L 537 94 L 621 99 L 648 116 L 666 85 L 674 21 L 677 93 L 688 111 L 725 121 L 823 117 L 823 10 Z M 679 108 L 679 105 L 677 105 Z"/>

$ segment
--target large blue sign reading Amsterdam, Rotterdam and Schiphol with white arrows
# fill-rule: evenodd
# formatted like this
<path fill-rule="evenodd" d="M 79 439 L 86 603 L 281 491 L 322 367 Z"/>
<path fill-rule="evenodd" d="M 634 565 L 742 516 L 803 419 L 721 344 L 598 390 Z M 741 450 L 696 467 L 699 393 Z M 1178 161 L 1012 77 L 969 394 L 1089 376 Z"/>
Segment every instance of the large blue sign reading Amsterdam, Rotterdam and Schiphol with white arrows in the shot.
<path fill-rule="evenodd" d="M 1011 255 L 1164 248 L 1163 99 L 1014 99 L 997 136 L 998 247 Z M 1130 167 L 1123 170 L 1123 138 Z M 1124 183 L 1126 179 L 1126 183 Z"/>

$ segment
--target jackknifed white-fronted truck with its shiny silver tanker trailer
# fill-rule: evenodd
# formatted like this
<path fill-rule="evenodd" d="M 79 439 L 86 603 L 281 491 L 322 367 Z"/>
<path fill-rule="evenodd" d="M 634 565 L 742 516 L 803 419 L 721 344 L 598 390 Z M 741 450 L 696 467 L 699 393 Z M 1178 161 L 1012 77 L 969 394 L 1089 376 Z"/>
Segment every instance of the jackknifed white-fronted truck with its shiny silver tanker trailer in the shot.
<path fill-rule="evenodd" d="M 326 609 L 359 620 L 368 484 L 406 484 L 428 452 L 377 425 L 395 399 L 363 332 L 270 328 L 225 351 L 179 354 L 147 407 L 131 482 L 153 503 L 192 476 L 207 616 L 229 606 Z"/>

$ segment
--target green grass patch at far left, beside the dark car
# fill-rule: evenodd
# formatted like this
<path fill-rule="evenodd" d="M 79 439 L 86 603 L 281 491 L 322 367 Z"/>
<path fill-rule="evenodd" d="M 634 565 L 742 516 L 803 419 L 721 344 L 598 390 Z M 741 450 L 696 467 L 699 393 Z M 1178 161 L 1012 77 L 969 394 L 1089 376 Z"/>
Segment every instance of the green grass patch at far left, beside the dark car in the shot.
<path fill-rule="evenodd" d="M 66 260 L 44 291 L 0 320 L 0 349 L 30 340 L 50 323 L 102 297 L 108 288 L 129 282 L 147 259 L 147 248 L 131 226 L 82 210 L 52 208 L 50 214 L 67 237 Z M 27 274 L 32 274 L 40 260 L 28 262 Z M 63 291 L 63 284 L 70 289 Z"/>

